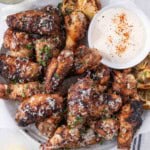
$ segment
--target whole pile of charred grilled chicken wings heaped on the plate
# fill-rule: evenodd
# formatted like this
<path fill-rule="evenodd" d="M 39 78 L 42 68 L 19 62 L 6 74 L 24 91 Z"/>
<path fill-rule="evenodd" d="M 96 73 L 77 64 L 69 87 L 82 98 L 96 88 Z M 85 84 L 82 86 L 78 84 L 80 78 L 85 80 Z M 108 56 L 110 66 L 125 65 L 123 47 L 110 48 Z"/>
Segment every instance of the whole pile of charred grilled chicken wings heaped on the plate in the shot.
<path fill-rule="evenodd" d="M 20 101 L 19 126 L 34 124 L 49 140 L 41 150 L 79 148 L 117 137 L 129 149 L 142 123 L 132 70 L 101 64 L 97 49 L 81 44 L 95 0 L 64 0 L 7 17 L 6 54 L 0 55 L 0 97 Z"/>

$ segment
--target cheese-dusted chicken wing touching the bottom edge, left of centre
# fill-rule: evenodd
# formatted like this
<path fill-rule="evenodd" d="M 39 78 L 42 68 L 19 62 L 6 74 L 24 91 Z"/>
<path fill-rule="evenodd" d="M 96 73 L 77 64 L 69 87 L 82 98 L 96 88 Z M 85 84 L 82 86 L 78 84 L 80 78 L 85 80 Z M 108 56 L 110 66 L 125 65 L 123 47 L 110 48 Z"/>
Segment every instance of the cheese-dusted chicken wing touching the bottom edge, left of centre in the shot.
<path fill-rule="evenodd" d="M 80 139 L 80 131 L 78 129 L 69 129 L 67 126 L 57 128 L 54 136 L 43 144 L 40 150 L 74 148 L 78 145 Z"/>

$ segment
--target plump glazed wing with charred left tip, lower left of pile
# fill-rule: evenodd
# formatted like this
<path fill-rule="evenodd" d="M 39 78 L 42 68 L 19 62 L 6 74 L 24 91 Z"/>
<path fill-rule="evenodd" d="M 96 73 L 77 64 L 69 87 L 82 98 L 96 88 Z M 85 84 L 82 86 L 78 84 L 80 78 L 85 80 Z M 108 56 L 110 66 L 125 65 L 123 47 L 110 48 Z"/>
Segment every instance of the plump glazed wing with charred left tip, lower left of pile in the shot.
<path fill-rule="evenodd" d="M 20 126 L 43 121 L 55 112 L 61 112 L 63 98 L 58 94 L 37 94 L 23 101 L 16 113 L 16 121 Z"/>

